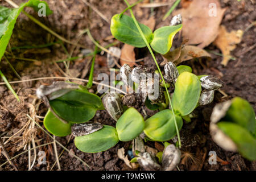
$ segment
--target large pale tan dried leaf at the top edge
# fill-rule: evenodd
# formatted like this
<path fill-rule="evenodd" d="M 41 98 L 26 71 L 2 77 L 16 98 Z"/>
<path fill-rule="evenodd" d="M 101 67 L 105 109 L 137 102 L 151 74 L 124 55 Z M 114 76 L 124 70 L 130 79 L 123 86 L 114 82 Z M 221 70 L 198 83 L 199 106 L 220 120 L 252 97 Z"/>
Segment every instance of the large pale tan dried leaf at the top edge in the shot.
<path fill-rule="evenodd" d="M 221 9 L 218 0 L 194 0 L 186 6 L 174 11 L 174 15 L 182 15 L 183 39 L 189 39 L 188 44 L 199 44 L 200 48 L 204 48 L 216 39 L 226 9 Z"/>

